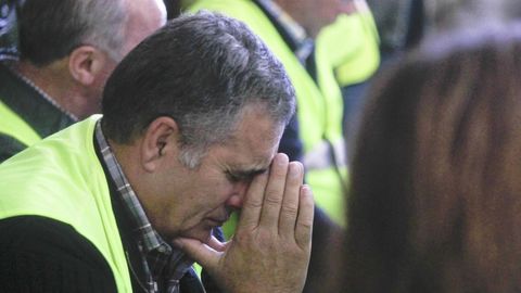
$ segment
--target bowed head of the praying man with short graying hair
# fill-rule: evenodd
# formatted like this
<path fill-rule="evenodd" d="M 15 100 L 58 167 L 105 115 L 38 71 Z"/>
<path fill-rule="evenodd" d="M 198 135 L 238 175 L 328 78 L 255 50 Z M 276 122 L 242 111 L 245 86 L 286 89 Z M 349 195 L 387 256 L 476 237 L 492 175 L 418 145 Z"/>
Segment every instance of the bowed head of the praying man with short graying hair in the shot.
<path fill-rule="evenodd" d="M 154 228 L 206 242 L 268 169 L 294 106 L 268 48 L 204 12 L 173 20 L 119 63 L 102 128 Z"/>

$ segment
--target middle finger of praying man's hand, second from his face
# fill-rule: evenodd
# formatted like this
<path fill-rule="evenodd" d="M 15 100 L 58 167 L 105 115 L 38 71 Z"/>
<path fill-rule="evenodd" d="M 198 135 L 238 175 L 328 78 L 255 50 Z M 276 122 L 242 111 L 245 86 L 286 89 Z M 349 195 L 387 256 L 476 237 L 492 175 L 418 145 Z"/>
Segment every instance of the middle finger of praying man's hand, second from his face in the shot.
<path fill-rule="evenodd" d="M 264 194 L 259 226 L 267 229 L 279 229 L 279 215 L 284 194 L 289 158 L 285 154 L 277 154 L 271 163 L 268 184 Z"/>

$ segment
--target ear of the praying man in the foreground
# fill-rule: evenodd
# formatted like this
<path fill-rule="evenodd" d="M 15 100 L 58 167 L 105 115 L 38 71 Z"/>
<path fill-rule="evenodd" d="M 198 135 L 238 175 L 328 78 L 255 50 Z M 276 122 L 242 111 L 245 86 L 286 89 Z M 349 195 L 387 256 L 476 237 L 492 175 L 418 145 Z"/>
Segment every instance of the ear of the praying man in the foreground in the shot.
<path fill-rule="evenodd" d="M 177 156 L 179 138 L 179 127 L 173 118 L 162 116 L 154 119 L 147 128 L 141 143 L 143 168 L 154 171 L 165 160 Z"/>

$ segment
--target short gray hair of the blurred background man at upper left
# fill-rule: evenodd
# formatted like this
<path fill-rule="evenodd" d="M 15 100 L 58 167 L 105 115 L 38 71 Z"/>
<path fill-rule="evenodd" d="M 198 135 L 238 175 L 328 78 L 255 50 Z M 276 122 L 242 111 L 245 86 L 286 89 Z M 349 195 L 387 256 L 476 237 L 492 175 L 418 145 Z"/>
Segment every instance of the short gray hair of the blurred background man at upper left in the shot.
<path fill-rule="evenodd" d="M 119 61 L 128 21 L 125 0 L 26 0 L 21 9 L 22 60 L 47 65 L 81 44 Z"/>

